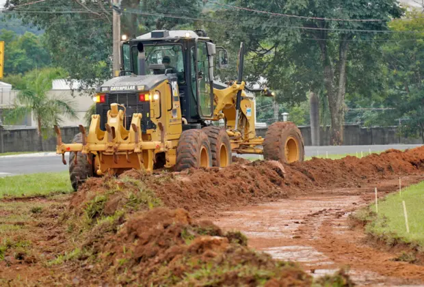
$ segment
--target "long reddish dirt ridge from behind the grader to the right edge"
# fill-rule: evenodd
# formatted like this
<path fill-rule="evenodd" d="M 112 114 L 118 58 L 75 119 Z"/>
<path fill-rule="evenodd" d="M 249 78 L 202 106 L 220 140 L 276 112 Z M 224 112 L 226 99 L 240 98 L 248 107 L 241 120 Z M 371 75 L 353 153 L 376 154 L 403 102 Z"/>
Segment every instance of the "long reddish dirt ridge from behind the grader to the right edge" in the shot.
<path fill-rule="evenodd" d="M 204 213 L 213 215 L 217 208 L 226 206 L 281 199 L 317 188 L 362 187 L 403 174 L 417 174 L 424 169 L 424 147 L 406 152 L 389 150 L 362 159 L 347 156 L 334 161 L 312 159 L 292 165 L 281 165 L 276 161 L 241 162 L 225 169 L 189 169 L 154 176 L 131 170 L 116 180 L 92 178 L 75 195 L 71 206 L 77 206 L 87 196 L 98 196 L 114 185 L 112 189 L 124 191 L 127 195 L 148 191 L 150 195 L 143 202 L 157 197 L 163 206 L 185 208 L 195 217 Z M 112 207 L 122 205 L 117 198 Z"/>

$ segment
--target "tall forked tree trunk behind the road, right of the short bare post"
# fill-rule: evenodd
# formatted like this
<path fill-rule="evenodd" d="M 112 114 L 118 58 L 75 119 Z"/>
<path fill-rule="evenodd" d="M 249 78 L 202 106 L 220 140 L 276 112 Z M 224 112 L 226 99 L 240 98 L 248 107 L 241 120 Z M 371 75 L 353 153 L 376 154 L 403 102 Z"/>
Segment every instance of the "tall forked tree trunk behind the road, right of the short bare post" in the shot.
<path fill-rule="evenodd" d="M 346 61 L 349 49 L 347 38 L 343 38 L 339 46 L 339 62 L 334 67 L 327 49 L 326 41 L 319 42 L 323 60 L 324 85 L 327 90 L 328 106 L 330 108 L 331 128 L 330 144 L 340 146 L 343 144 L 343 124 L 346 94 Z"/>

